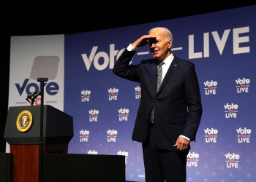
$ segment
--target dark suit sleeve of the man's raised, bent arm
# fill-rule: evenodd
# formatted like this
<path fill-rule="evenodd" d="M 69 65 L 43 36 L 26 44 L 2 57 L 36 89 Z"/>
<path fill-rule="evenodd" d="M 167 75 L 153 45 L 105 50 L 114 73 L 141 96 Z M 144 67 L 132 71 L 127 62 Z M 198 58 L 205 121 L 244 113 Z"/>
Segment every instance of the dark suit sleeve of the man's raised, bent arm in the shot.
<path fill-rule="evenodd" d="M 140 66 L 129 65 L 136 51 L 128 51 L 127 49 L 121 54 L 115 63 L 113 73 L 121 78 L 128 79 L 133 82 L 140 82 Z"/>

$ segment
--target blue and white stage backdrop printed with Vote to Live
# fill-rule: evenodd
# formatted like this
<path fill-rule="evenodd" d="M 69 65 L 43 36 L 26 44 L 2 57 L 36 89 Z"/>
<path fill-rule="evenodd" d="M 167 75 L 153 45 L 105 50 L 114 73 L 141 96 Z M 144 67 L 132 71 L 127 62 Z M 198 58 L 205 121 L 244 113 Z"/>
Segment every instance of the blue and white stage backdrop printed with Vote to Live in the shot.
<path fill-rule="evenodd" d="M 74 117 L 69 153 L 124 155 L 127 181 L 145 181 L 141 143 L 131 140 L 143 93 L 140 84 L 115 76 L 112 69 L 130 43 L 162 26 L 173 33 L 173 54 L 195 63 L 202 95 L 203 117 L 187 156 L 187 181 L 255 181 L 255 10 L 256 6 L 243 7 L 104 31 L 39 36 L 59 44 L 49 55 L 64 56 L 64 79 L 58 77 L 59 90 L 55 90 L 60 96 L 64 92 L 64 105 L 56 95 L 45 95 L 45 99 L 54 98 L 57 108 Z M 61 41 L 53 41 L 53 37 Z M 24 100 L 33 91 L 28 87 L 36 88 L 31 80 L 26 81 L 30 62 L 18 74 L 12 71 L 23 65 L 19 61 L 32 61 L 51 47 L 29 41 L 35 38 L 12 37 L 10 106 L 17 106 L 15 100 Z M 29 52 L 22 47 L 25 43 L 34 45 L 31 49 L 39 47 L 38 52 Z M 31 56 L 23 58 L 25 55 Z M 148 46 L 140 47 L 132 64 L 148 58 L 152 58 Z M 59 69 L 63 71 L 62 66 Z M 48 89 L 56 87 L 53 84 Z"/>

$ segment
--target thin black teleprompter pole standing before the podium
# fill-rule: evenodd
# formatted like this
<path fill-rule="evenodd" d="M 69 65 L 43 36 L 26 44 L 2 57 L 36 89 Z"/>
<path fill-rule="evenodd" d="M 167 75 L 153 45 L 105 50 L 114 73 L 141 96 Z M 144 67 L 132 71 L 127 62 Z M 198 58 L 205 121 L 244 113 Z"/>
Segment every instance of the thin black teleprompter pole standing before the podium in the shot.
<path fill-rule="evenodd" d="M 37 78 L 37 82 L 41 82 L 41 110 L 40 110 L 40 140 L 39 140 L 39 175 L 38 181 L 42 182 L 42 153 L 43 153 L 43 114 L 44 114 L 44 82 L 48 82 L 48 78 Z"/>

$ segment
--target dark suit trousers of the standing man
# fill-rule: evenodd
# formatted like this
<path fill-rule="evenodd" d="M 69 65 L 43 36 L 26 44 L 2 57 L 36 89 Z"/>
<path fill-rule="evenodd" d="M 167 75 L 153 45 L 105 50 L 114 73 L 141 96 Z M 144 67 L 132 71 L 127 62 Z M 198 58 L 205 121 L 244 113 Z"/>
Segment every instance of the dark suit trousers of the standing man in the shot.
<path fill-rule="evenodd" d="M 186 182 L 189 150 L 159 149 L 154 142 L 154 123 L 148 122 L 148 125 L 148 136 L 143 143 L 146 182 Z"/>

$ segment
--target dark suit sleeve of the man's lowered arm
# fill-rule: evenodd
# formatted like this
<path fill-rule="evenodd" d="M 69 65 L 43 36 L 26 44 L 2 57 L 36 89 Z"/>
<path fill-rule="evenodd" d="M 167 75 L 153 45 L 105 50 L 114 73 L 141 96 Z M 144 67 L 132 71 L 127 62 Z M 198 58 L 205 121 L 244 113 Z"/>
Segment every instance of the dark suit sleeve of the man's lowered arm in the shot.
<path fill-rule="evenodd" d="M 190 65 L 187 70 L 185 92 L 188 108 L 187 124 L 181 135 L 187 136 L 190 138 L 190 141 L 195 141 L 195 135 L 200 124 L 203 108 L 194 64 Z"/>

